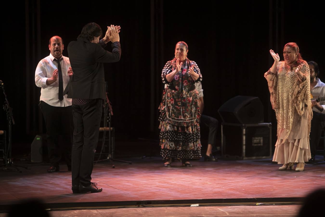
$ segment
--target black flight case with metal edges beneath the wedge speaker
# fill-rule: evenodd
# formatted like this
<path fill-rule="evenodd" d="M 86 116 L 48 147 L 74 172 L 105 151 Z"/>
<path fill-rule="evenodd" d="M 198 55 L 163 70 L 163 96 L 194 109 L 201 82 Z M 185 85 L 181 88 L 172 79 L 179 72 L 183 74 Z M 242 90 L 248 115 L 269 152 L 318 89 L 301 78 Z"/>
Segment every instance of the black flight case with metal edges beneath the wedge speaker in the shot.
<path fill-rule="evenodd" d="M 271 123 L 221 124 L 221 150 L 225 158 L 270 158 L 271 144 Z"/>

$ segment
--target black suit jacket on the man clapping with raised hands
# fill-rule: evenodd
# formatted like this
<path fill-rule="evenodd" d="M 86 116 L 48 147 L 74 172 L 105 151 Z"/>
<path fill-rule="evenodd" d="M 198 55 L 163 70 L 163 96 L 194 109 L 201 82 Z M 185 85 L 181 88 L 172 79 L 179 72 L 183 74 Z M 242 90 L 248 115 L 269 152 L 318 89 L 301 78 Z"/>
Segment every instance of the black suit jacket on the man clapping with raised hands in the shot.
<path fill-rule="evenodd" d="M 100 43 L 103 47 L 105 43 Z M 104 62 L 117 62 L 121 57 L 120 42 L 112 43 L 112 52 L 99 43 L 78 38 L 68 45 L 73 75 L 63 91 L 72 99 L 106 99 Z"/>

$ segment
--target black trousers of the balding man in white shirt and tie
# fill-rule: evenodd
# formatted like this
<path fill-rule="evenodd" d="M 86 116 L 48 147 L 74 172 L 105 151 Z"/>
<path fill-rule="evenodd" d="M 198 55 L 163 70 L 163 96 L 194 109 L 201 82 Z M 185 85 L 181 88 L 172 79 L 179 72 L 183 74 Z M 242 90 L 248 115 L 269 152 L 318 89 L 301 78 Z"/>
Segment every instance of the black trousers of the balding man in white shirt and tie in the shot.
<path fill-rule="evenodd" d="M 67 165 L 71 166 L 73 134 L 72 108 L 57 107 L 40 101 L 39 104 L 46 125 L 48 156 L 51 164 L 59 165 L 62 152 Z M 62 136 L 62 140 L 59 137 Z"/>

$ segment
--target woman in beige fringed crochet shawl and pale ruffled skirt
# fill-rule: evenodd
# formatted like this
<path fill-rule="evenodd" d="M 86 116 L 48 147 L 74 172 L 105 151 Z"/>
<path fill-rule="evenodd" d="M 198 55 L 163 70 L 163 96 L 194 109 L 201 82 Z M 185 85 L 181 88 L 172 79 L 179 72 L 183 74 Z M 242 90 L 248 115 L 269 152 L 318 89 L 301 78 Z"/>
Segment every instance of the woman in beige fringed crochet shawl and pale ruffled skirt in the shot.
<path fill-rule="evenodd" d="M 313 117 L 310 101 L 310 73 L 296 43 L 283 48 L 284 61 L 270 50 L 272 67 L 264 74 L 271 94 L 272 108 L 278 120 L 273 161 L 283 164 L 279 170 L 303 171 L 311 158 L 309 147 L 310 124 Z"/>

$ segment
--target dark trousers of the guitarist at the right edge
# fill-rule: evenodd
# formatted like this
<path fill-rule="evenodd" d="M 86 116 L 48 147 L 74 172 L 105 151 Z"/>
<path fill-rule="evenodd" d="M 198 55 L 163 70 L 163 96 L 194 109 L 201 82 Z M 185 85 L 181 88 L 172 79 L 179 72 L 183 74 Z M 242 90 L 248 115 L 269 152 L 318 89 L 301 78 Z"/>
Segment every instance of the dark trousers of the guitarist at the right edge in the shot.
<path fill-rule="evenodd" d="M 325 114 L 314 112 L 313 119 L 311 120 L 310 129 L 310 152 L 312 156 L 316 154 L 316 148 L 318 146 L 322 129 L 325 126 Z"/>

